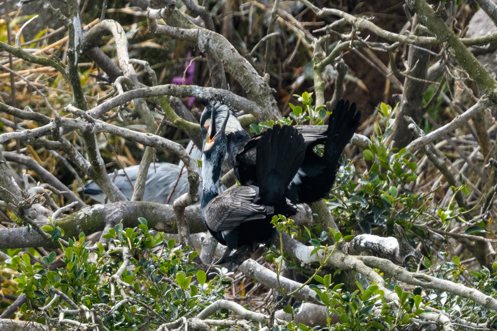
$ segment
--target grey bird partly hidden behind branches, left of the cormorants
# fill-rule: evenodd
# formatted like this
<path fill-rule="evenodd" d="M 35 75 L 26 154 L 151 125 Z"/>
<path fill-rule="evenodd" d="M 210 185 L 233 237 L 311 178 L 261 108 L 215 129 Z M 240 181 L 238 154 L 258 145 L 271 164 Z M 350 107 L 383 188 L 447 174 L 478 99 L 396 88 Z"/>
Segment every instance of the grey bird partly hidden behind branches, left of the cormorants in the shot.
<path fill-rule="evenodd" d="M 196 161 L 200 159 L 201 152 L 192 141 L 188 143 L 185 149 L 189 152 L 193 160 Z M 134 165 L 124 169 L 133 184 L 133 187 L 135 186 L 139 167 L 139 165 Z M 181 177 L 178 180 L 180 171 Z M 199 174 L 202 173 L 200 169 L 197 169 L 197 171 Z M 108 176 L 112 180 L 112 178 L 114 178 L 114 173 L 110 173 Z M 147 181 L 145 182 L 143 201 L 166 204 L 169 200 L 169 204 L 172 204 L 175 199 L 188 192 L 187 176 L 186 168 L 181 161 L 178 165 L 172 163 L 155 163 L 154 166 L 154 163 L 150 164 Z M 131 197 L 133 196 L 133 187 L 130 185 L 128 178 L 126 178 L 123 169 L 118 171 L 114 184 L 128 200 L 131 200 Z M 173 189 L 174 192 L 171 195 Z M 105 194 L 94 182 L 86 184 L 83 188 L 83 193 L 85 196 L 91 197 L 100 203 L 107 202 Z M 202 190 L 198 191 L 198 195 L 200 201 L 202 199 Z"/>

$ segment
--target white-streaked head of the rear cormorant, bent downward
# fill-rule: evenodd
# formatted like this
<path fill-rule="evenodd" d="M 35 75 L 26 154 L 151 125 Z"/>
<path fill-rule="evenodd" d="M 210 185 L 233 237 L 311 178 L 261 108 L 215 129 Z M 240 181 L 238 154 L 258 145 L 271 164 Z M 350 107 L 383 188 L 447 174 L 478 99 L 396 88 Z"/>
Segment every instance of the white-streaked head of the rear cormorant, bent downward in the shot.
<path fill-rule="evenodd" d="M 204 138 L 204 141 L 208 138 L 207 135 L 209 129 L 211 128 L 211 126 L 213 126 L 213 113 L 215 115 L 215 118 L 217 119 L 215 128 L 216 131 L 221 130 L 221 126 L 223 125 L 225 119 L 228 119 L 225 129 L 226 134 L 244 130 L 240 125 L 240 122 L 238 122 L 238 116 L 235 108 L 230 105 L 228 100 L 223 99 L 220 96 L 215 96 L 207 100 L 204 103 L 204 106 L 204 111 L 202 112 L 202 116 L 200 117 L 200 127 L 202 130 L 202 137 Z M 230 114 L 230 116 L 227 117 L 227 114 Z M 212 135 L 210 137 L 212 137 Z"/>

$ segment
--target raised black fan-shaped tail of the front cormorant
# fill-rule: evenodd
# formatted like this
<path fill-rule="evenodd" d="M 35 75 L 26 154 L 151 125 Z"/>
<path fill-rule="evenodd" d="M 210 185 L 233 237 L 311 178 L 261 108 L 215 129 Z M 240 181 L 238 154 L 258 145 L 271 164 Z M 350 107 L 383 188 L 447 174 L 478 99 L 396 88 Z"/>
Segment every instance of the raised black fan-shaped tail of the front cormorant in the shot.
<path fill-rule="evenodd" d="M 305 150 L 304 137 L 291 126 L 275 125 L 261 134 L 256 166 L 260 203 L 275 206 L 276 212 L 286 205 L 285 189 L 297 174 Z"/>

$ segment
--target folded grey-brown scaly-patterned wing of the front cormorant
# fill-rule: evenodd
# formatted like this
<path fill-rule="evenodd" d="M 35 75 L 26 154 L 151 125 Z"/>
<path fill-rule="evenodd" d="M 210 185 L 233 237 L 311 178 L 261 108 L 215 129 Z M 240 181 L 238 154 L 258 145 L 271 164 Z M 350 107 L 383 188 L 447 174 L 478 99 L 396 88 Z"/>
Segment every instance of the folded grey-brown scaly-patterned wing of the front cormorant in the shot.
<path fill-rule="evenodd" d="M 204 220 L 212 231 L 237 228 L 243 222 L 266 217 L 267 208 L 252 203 L 257 192 L 248 186 L 224 191 L 204 209 Z"/>

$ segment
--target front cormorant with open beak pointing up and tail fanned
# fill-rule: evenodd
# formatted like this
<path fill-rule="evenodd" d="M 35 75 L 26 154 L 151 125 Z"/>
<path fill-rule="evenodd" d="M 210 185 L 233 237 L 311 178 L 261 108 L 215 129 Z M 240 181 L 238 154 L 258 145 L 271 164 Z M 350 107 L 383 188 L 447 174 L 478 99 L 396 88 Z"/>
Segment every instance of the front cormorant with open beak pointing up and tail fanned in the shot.
<path fill-rule="evenodd" d="M 232 250 L 254 243 L 268 244 L 274 234 L 272 215 L 295 214 L 293 204 L 285 198 L 288 187 L 304 159 L 304 138 L 290 126 L 274 126 L 262 133 L 254 148 L 258 186 L 238 186 L 219 194 L 221 166 L 226 157 L 226 126 L 230 114 L 223 118 L 216 132 L 216 112 L 211 114 L 202 152 L 203 195 L 200 215 L 205 226 L 221 244 L 228 246 L 226 261 Z"/>

